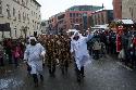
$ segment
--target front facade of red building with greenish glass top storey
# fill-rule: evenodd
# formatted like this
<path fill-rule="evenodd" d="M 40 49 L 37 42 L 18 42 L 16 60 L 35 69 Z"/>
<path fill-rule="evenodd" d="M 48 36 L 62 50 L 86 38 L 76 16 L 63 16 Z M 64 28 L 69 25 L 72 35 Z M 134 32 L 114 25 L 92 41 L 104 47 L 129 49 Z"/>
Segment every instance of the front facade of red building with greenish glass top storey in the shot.
<path fill-rule="evenodd" d="M 102 9 L 96 5 L 74 5 L 65 11 L 66 29 L 84 30 L 90 28 L 89 16 L 92 12 Z"/>

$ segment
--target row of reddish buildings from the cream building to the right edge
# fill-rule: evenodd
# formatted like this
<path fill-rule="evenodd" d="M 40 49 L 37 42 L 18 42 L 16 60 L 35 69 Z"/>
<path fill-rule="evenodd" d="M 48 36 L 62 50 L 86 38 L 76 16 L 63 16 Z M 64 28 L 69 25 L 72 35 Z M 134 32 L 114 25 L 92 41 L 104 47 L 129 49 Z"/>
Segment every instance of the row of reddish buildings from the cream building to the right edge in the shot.
<path fill-rule="evenodd" d="M 51 16 L 49 21 L 44 21 L 42 33 L 57 34 L 73 28 L 88 29 L 119 20 L 126 20 L 126 24 L 129 21 L 136 23 L 136 0 L 113 0 L 112 4 L 113 10 L 104 10 L 103 4 L 102 7 L 74 5 L 65 12 Z"/>

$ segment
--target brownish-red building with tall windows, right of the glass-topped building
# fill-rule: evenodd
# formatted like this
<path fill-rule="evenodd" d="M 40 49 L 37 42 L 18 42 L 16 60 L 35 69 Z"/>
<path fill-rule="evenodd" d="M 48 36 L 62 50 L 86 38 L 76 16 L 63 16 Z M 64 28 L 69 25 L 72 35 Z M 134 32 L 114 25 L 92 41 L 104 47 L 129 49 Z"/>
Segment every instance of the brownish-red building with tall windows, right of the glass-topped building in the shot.
<path fill-rule="evenodd" d="M 97 11 L 90 16 L 91 26 L 109 24 L 113 20 L 113 10 Z"/>

